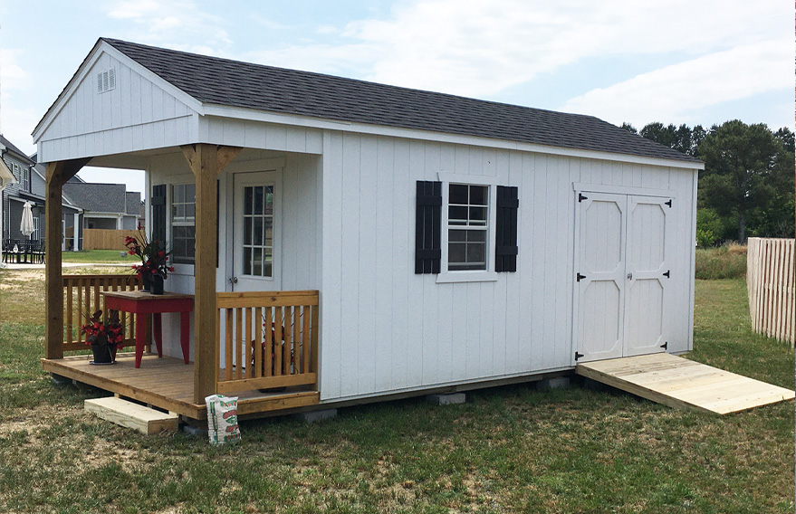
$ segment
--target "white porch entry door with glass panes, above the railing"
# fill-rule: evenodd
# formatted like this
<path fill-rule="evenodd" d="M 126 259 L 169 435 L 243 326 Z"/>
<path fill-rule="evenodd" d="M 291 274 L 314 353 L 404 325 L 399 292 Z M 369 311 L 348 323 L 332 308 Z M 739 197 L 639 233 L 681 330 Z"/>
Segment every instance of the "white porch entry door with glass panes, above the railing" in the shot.
<path fill-rule="evenodd" d="M 282 190 L 278 172 L 235 174 L 232 290 L 281 290 Z"/>

